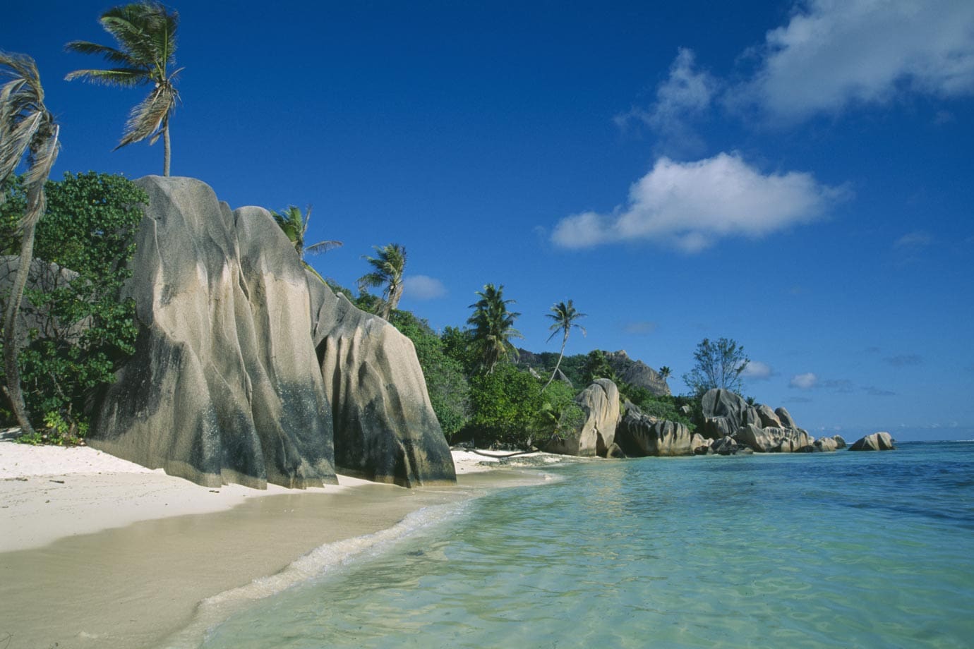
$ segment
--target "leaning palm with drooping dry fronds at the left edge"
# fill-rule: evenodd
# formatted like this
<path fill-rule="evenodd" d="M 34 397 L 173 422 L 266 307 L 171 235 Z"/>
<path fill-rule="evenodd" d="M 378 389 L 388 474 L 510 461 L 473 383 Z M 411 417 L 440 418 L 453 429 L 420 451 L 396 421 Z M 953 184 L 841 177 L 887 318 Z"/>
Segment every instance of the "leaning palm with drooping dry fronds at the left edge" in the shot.
<path fill-rule="evenodd" d="M 0 87 L 0 185 L 3 185 L 26 155 L 23 179 L 27 208 L 19 222 L 20 259 L 14 286 L 4 309 L 4 369 L 7 397 L 20 430 L 34 432 L 23 403 L 18 366 L 18 319 L 27 273 L 34 256 L 34 230 L 47 208 L 44 184 L 57 159 L 58 131 L 54 116 L 44 105 L 44 89 L 34 59 L 24 54 L 0 52 L 0 77 L 10 78 Z M 0 193 L 0 201 L 4 199 Z"/>

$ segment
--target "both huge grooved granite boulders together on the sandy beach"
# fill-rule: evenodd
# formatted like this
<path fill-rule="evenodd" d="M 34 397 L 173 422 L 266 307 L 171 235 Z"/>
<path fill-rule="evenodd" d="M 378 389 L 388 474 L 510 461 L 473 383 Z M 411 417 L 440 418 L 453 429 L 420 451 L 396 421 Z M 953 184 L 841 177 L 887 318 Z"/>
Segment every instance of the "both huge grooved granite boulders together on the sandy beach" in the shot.
<path fill-rule="evenodd" d="M 208 487 L 456 481 L 409 339 L 309 276 L 266 209 L 190 178 L 136 184 L 138 340 L 91 446 Z"/>

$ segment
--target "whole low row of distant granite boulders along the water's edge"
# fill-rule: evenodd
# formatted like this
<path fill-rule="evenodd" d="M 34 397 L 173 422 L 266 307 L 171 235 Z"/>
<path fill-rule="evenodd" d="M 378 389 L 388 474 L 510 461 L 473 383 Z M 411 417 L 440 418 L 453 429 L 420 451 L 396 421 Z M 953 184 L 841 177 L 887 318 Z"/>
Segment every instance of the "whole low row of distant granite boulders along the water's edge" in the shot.
<path fill-rule="evenodd" d="M 597 394 L 599 398 L 593 399 Z M 846 448 L 839 435 L 813 438 L 784 408 L 749 405 L 729 390 L 703 395 L 701 432 L 683 423 L 646 415 L 626 403 L 619 415 L 618 388 L 599 379 L 579 395 L 585 423 L 576 435 L 549 444 L 545 451 L 603 457 L 672 455 L 733 455 L 753 452 L 822 452 Z M 874 433 L 856 442 L 850 451 L 892 450 L 888 433 Z"/>

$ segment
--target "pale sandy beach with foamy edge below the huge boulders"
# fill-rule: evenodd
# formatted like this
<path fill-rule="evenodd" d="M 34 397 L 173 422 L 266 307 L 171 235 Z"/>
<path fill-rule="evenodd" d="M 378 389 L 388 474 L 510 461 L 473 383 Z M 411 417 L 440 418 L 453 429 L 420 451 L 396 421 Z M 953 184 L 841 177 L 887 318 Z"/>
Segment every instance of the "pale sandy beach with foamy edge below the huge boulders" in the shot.
<path fill-rule="evenodd" d="M 90 448 L 0 441 L 0 643 L 196 646 L 249 601 L 408 533 L 420 510 L 435 518 L 488 489 L 543 481 L 454 454 L 456 487 L 339 476 L 337 487 L 265 491 L 200 487 Z"/>

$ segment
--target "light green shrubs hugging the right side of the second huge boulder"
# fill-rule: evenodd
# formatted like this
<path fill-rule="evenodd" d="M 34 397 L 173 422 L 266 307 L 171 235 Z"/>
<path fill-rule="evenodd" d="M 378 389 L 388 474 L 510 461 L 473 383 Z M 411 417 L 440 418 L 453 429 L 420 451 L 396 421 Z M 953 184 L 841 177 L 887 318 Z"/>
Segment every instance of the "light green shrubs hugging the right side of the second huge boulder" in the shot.
<path fill-rule="evenodd" d="M 470 388 L 463 365 L 448 356 L 430 326 L 409 311 L 393 311 L 391 322 L 416 347 L 432 410 L 446 439 L 451 439 L 467 425 L 470 415 Z"/>

